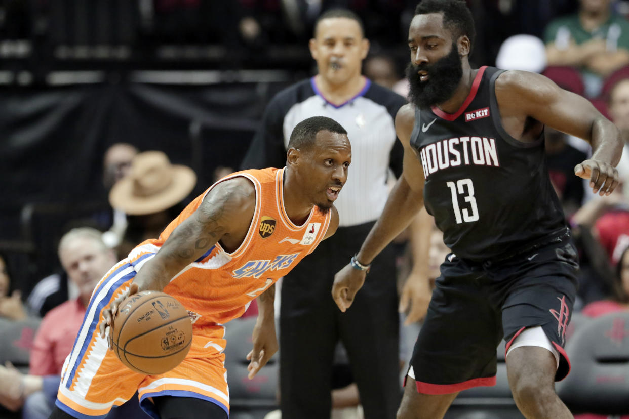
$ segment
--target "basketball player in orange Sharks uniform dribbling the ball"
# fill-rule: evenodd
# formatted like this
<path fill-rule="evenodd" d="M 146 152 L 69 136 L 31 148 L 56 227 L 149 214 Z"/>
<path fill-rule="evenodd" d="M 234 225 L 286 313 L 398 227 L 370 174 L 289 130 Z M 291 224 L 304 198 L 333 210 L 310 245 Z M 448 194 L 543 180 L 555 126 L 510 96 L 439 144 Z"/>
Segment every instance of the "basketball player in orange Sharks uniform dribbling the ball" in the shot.
<path fill-rule="evenodd" d="M 292 131 L 285 168 L 245 170 L 221 179 L 159 239 L 133 249 L 92 295 L 50 417 L 103 418 L 138 391 L 153 418 L 227 418 L 223 337 L 229 326 L 224 324 L 262 295 L 250 353 L 253 376 L 277 351 L 274 283 L 336 231 L 333 202 L 351 160 L 347 131 L 338 122 L 306 119 Z M 143 290 L 174 296 L 192 320 L 186 359 L 156 376 L 123 366 L 106 338 L 120 302 Z"/>

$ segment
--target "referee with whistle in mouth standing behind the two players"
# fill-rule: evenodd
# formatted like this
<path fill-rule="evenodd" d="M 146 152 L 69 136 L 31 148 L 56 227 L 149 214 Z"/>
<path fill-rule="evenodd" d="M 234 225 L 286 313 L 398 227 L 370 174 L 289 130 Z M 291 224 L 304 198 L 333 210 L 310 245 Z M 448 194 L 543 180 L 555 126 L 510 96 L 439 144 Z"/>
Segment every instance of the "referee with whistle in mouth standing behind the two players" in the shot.
<path fill-rule="evenodd" d="M 310 51 L 318 74 L 282 90 L 267 107 L 243 169 L 286 165 L 286 146 L 299 121 L 328 116 L 352 141 L 348 180 L 335 202 L 337 233 L 284 278 L 280 310 L 282 418 L 326 418 L 331 410 L 332 364 L 341 340 L 365 418 L 395 418 L 399 388 L 398 293 L 394 254 L 374 260 L 352 310 L 331 298 L 335 273 L 352 258 L 387 200 L 387 176 L 402 173 L 403 148 L 394 118 L 406 101 L 360 73 L 369 50 L 362 21 L 333 9 L 315 23 Z"/>

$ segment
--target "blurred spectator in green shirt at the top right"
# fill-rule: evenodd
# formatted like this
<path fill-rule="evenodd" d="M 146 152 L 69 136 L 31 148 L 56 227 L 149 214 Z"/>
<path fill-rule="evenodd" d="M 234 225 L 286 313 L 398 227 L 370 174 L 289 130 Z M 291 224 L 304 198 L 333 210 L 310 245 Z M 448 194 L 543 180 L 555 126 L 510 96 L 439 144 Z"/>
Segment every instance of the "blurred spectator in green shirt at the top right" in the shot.
<path fill-rule="evenodd" d="M 603 78 L 629 64 L 629 22 L 611 0 L 580 0 L 576 14 L 556 18 L 545 31 L 548 65 L 581 70 L 586 96 L 596 97 Z"/>

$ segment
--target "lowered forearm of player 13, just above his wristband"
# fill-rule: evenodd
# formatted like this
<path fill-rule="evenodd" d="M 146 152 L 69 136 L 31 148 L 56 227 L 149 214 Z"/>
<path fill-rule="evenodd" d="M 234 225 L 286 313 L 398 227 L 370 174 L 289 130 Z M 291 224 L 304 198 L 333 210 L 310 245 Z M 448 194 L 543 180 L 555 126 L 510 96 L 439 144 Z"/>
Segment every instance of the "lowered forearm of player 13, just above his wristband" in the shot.
<path fill-rule="evenodd" d="M 423 205 L 423 193 L 415 192 L 401 176 L 389 194 L 380 218 L 363 242 L 357 259 L 370 264 L 413 220 Z"/>

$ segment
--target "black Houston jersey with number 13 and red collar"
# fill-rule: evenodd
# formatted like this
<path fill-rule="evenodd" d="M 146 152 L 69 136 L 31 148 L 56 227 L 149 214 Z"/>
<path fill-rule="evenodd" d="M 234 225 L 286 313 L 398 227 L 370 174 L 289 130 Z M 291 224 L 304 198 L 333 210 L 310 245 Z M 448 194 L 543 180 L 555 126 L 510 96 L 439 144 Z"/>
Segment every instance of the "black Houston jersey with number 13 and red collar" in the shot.
<path fill-rule="evenodd" d="M 502 126 L 494 93 L 502 72 L 481 67 L 455 114 L 415 111 L 411 146 L 426 178 L 426 209 L 461 258 L 501 258 L 566 228 L 543 133 L 523 143 Z"/>

